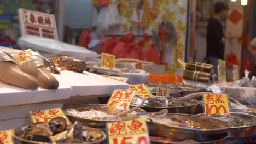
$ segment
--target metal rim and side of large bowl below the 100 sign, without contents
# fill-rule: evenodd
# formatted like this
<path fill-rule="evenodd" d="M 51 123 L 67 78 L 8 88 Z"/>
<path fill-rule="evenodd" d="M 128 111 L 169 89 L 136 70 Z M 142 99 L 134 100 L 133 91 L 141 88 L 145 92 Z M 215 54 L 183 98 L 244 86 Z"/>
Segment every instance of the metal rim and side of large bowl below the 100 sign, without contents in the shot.
<path fill-rule="evenodd" d="M 154 113 L 159 114 L 159 113 Z M 142 115 L 152 115 L 152 113 L 142 113 Z M 185 114 L 177 114 L 177 113 L 167 113 L 168 115 L 179 115 L 179 116 L 190 116 L 190 117 L 196 117 L 201 118 L 205 121 L 210 121 L 219 123 L 223 125 L 222 129 L 207 129 L 207 130 L 197 130 L 202 135 L 203 139 L 205 141 L 211 141 L 216 139 L 216 137 L 225 137 L 228 129 L 230 128 L 230 124 L 224 121 L 220 121 L 218 119 L 209 118 L 205 116 L 199 116 L 199 115 L 185 115 Z M 211 123 L 210 122 L 210 123 Z M 196 130 L 193 128 L 187 128 L 187 127 L 177 127 L 172 125 L 165 125 L 160 124 L 156 122 L 150 122 L 147 121 L 149 134 L 151 136 L 161 136 L 161 137 L 178 137 L 179 140 L 200 140 L 199 134 L 197 134 Z"/>

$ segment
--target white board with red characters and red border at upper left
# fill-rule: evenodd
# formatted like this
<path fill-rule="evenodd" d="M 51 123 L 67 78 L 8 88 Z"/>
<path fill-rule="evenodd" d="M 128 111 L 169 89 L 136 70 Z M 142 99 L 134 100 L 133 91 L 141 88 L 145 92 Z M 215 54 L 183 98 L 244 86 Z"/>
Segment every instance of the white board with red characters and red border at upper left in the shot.
<path fill-rule="evenodd" d="M 39 11 L 18 9 L 20 33 L 58 40 L 55 16 Z"/>

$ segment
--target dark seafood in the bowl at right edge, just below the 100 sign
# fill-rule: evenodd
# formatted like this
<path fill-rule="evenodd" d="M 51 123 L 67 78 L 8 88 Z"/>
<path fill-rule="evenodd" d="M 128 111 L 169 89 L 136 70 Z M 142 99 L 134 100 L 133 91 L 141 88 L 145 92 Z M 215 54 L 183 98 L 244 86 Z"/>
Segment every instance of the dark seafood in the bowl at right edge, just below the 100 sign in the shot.
<path fill-rule="evenodd" d="M 248 119 L 246 117 L 232 116 L 232 115 L 211 115 L 212 118 L 217 118 L 231 124 L 231 127 L 243 127 L 249 125 L 256 125 L 256 117 Z"/>

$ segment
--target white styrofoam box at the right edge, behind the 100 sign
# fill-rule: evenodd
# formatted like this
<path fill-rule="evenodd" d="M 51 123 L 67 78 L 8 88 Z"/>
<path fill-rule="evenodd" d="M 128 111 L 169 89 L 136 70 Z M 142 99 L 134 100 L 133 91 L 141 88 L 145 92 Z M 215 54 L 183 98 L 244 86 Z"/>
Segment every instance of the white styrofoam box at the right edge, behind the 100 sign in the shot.
<path fill-rule="evenodd" d="M 231 86 L 220 88 L 222 88 L 222 92 L 228 94 L 229 97 L 246 101 L 256 101 L 256 88 Z"/>

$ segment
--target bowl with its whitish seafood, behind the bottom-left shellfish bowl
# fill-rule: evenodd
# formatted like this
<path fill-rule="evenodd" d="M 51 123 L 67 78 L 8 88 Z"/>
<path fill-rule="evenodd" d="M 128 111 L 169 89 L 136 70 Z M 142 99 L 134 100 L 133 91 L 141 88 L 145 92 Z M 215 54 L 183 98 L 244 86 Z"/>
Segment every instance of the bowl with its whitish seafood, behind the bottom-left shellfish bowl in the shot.
<path fill-rule="evenodd" d="M 79 121 L 89 127 L 96 128 L 105 128 L 106 123 L 109 121 L 124 121 L 137 118 L 139 113 L 145 111 L 138 109 L 125 115 L 117 116 L 123 112 L 125 112 L 125 110 L 114 109 L 105 104 L 74 106 L 65 109 L 65 113 L 71 122 Z"/>

